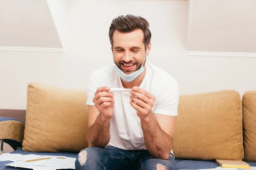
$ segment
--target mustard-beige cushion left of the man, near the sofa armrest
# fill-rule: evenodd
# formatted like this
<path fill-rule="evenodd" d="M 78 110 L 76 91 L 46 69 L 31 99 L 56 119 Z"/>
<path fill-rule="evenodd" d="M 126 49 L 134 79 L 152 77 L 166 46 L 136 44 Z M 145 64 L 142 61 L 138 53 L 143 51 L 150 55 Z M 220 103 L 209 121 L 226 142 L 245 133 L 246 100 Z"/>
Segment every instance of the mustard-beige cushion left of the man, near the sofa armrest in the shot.
<path fill-rule="evenodd" d="M 31 152 L 80 150 L 88 146 L 86 91 L 30 83 L 22 148 Z"/>

